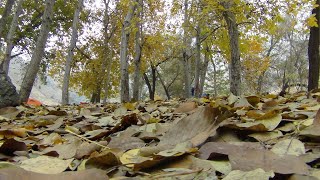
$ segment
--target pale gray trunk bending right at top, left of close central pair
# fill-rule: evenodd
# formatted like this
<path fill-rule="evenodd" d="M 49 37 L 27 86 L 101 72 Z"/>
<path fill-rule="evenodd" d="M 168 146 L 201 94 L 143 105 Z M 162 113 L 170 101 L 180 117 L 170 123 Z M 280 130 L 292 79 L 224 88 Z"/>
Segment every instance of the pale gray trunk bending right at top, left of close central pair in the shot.
<path fill-rule="evenodd" d="M 121 45 L 120 45 L 120 99 L 121 102 L 129 102 L 129 72 L 128 72 L 128 42 L 130 35 L 130 24 L 136 9 L 137 1 L 130 4 L 127 15 L 124 19 L 121 31 Z"/>

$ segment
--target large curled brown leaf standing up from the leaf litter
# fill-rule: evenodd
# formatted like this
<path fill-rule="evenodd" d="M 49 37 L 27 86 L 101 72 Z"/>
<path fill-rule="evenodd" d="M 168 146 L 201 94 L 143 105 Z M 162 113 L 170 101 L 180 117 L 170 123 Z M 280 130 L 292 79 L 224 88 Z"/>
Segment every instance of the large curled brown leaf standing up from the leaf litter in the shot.
<path fill-rule="evenodd" d="M 220 123 L 228 116 L 228 111 L 223 108 L 200 107 L 173 125 L 161 138 L 158 146 L 142 148 L 141 154 L 152 155 L 186 141 L 198 146 L 215 135 Z"/>

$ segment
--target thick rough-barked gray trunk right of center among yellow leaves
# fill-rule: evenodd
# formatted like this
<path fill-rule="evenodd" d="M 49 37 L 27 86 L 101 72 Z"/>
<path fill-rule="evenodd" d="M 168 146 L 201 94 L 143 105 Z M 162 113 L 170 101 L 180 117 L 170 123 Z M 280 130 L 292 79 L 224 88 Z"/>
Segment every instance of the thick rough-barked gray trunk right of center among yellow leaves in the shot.
<path fill-rule="evenodd" d="M 233 6 L 232 2 L 224 2 L 224 8 L 226 11 L 223 13 L 223 17 L 227 23 L 231 61 L 229 64 L 230 74 L 230 92 L 236 96 L 241 95 L 241 62 L 240 62 L 240 49 L 239 49 L 239 31 L 236 23 L 236 17 L 230 10 Z"/>

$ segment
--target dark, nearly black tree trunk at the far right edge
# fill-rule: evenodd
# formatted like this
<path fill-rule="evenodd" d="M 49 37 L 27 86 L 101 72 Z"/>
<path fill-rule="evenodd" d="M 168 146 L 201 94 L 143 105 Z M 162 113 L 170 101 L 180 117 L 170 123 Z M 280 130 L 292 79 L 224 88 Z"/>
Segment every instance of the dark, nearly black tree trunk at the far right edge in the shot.
<path fill-rule="evenodd" d="M 312 10 L 312 14 L 316 15 L 317 22 L 320 24 L 320 0 L 316 0 L 317 7 Z M 310 28 L 310 37 L 308 44 L 308 57 L 309 57 L 309 78 L 308 78 L 308 91 L 317 89 L 319 87 L 319 26 Z"/>

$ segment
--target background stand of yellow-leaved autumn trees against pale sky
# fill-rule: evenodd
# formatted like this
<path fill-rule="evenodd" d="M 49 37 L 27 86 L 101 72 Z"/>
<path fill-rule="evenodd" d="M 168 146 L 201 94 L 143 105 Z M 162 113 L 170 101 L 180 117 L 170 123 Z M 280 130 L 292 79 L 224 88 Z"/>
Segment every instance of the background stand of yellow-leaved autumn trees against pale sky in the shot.
<path fill-rule="evenodd" d="M 307 90 L 317 4 L 2 0 L 1 70 L 23 57 L 30 65 L 20 99 L 28 99 L 37 75 L 51 76 L 61 83 L 62 104 L 70 89 L 93 103 Z M 312 74 L 319 77 L 319 67 Z"/>

